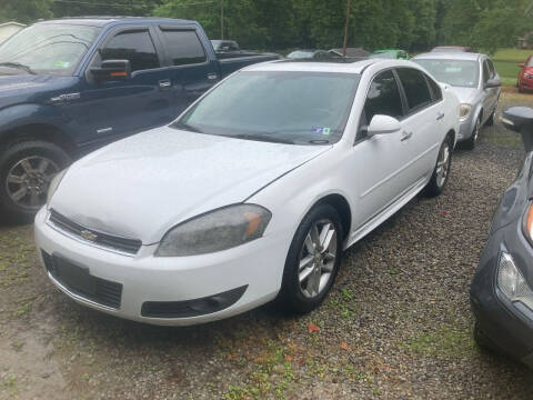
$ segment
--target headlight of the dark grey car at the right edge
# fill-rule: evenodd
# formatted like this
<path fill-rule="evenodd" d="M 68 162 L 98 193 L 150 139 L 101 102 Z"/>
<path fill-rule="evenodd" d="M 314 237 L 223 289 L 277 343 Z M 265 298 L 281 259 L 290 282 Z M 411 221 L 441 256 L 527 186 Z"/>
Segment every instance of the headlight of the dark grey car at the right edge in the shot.
<path fill-rule="evenodd" d="M 533 310 L 533 291 L 516 268 L 511 254 L 506 252 L 500 256 L 497 287 L 510 301 L 520 301 Z"/>

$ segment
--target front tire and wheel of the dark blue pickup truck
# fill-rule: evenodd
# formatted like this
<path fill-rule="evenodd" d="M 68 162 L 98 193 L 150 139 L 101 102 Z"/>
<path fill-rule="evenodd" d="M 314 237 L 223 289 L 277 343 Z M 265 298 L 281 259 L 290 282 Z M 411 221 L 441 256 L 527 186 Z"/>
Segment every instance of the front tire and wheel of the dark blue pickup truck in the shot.
<path fill-rule="evenodd" d="M 47 201 L 48 187 L 70 157 L 58 146 L 24 141 L 0 154 L 0 210 L 13 222 L 29 222 Z"/>

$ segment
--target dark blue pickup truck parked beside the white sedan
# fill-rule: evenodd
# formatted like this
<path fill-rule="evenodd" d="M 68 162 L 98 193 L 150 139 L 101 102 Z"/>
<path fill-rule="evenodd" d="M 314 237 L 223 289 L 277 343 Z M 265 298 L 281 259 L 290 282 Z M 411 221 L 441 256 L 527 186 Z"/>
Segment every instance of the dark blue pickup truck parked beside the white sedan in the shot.
<path fill-rule="evenodd" d="M 171 122 L 225 76 L 274 60 L 219 60 L 195 21 L 71 18 L 0 46 L 0 212 L 30 219 L 79 154 Z"/>

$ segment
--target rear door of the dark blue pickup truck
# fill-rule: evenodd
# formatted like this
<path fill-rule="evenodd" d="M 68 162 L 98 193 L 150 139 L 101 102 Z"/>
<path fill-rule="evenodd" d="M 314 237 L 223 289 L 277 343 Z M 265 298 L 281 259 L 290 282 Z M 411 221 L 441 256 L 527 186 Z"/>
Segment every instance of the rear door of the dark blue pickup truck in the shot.
<path fill-rule="evenodd" d="M 210 60 L 207 49 L 191 26 L 159 26 L 167 64 L 171 70 L 171 92 L 178 117 L 190 103 L 220 80 L 217 60 Z"/>

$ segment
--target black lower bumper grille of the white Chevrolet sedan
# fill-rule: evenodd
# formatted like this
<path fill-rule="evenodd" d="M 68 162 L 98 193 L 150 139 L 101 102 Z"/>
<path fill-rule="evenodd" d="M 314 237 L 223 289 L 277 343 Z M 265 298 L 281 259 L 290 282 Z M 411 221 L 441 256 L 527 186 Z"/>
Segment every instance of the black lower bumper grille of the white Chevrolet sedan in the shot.
<path fill-rule="evenodd" d="M 120 308 L 122 298 L 121 283 L 93 277 L 89 273 L 89 270 L 84 270 L 62 258 L 50 256 L 42 250 L 41 254 L 47 271 L 69 291 L 102 306 L 114 309 Z M 61 263 L 61 266 L 59 263 Z M 68 271 L 69 273 L 64 272 L 66 268 L 70 269 L 70 271 Z M 76 273 L 78 273 L 78 278 L 73 279 L 72 277 L 76 277 Z"/>

